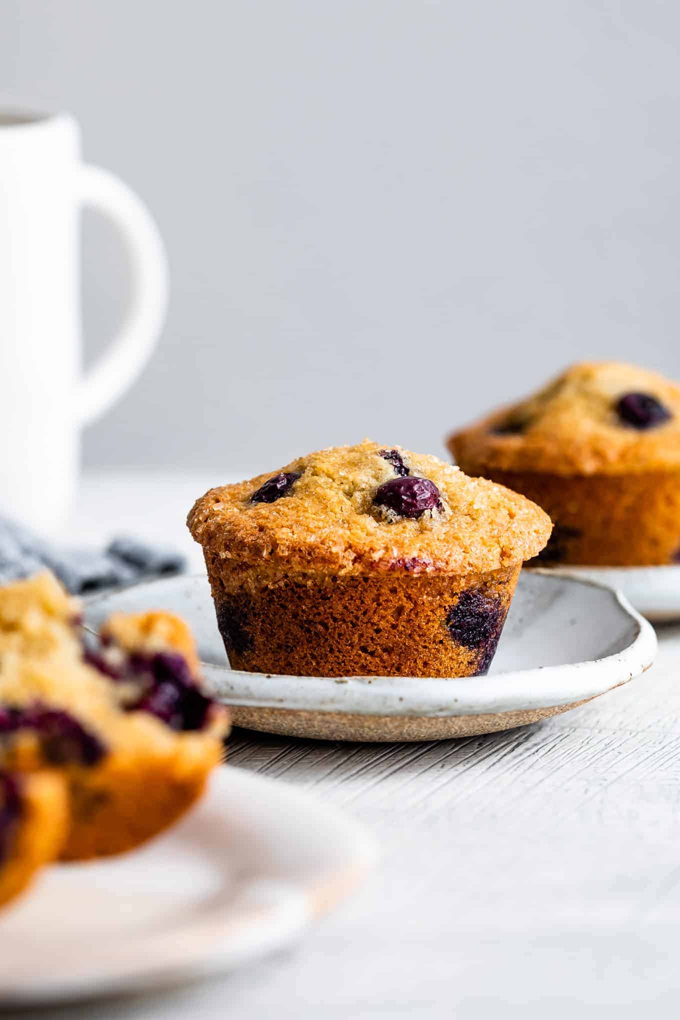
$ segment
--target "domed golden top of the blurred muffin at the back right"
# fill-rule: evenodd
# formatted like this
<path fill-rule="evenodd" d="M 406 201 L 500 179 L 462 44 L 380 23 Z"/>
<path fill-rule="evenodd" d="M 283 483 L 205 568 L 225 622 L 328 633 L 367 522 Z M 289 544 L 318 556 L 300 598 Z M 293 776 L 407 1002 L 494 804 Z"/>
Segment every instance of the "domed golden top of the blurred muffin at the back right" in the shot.
<path fill-rule="evenodd" d="M 680 386 L 616 361 L 572 365 L 449 438 L 466 471 L 625 474 L 680 468 Z"/>

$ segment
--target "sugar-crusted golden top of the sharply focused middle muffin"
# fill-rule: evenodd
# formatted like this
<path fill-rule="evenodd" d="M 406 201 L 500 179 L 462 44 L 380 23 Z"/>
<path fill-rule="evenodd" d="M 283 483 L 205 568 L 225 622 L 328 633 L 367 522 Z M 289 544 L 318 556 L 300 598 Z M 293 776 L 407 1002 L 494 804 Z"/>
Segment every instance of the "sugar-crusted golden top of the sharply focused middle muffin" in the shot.
<path fill-rule="evenodd" d="M 486 572 L 535 556 L 552 528 L 503 486 L 368 440 L 212 489 L 188 525 L 206 555 L 273 576 Z"/>

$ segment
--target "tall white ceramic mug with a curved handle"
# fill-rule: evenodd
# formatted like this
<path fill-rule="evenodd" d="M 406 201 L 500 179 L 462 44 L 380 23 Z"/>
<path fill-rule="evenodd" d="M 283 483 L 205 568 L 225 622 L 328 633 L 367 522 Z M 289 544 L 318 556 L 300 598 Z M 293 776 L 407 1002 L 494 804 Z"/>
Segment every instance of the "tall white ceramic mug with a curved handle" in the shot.
<path fill-rule="evenodd" d="M 81 374 L 80 211 L 118 227 L 132 300 Z M 58 531 L 73 498 L 81 429 L 133 382 L 165 319 L 167 264 L 146 207 L 81 158 L 68 114 L 0 112 L 0 513 Z"/>

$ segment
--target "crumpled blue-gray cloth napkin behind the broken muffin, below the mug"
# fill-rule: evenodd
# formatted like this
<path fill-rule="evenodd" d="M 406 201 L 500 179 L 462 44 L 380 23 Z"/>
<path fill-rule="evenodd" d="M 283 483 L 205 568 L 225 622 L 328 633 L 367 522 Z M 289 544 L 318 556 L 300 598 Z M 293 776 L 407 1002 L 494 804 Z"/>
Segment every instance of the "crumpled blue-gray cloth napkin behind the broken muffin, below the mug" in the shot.
<path fill-rule="evenodd" d="M 142 577 L 181 573 L 184 556 L 120 536 L 102 552 L 60 546 L 0 517 L 0 584 L 52 570 L 72 595 L 130 584 Z"/>

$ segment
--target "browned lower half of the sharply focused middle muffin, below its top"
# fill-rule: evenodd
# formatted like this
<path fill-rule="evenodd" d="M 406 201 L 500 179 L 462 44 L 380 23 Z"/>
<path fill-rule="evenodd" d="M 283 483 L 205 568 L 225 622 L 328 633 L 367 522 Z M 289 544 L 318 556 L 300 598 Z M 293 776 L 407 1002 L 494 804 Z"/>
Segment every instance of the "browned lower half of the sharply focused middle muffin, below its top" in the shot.
<path fill-rule="evenodd" d="M 298 574 L 253 592 L 209 574 L 233 669 L 291 676 L 478 676 L 521 564 L 468 576 Z M 219 564 L 216 564 L 219 567 Z"/>

